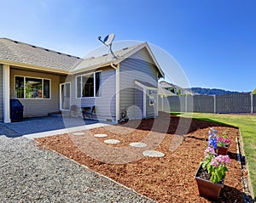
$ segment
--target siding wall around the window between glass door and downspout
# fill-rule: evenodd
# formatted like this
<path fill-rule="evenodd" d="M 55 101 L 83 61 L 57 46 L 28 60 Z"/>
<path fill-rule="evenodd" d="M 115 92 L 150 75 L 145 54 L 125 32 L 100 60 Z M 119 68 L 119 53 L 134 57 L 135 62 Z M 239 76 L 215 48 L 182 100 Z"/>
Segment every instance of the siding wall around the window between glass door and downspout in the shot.
<path fill-rule="evenodd" d="M 71 82 L 71 105 L 96 106 L 97 119 L 110 119 L 115 121 L 115 70 L 111 67 L 97 69 L 102 70 L 102 97 L 76 98 L 76 76 L 92 73 L 94 71 L 82 72 L 74 76 L 68 76 L 66 82 Z"/>

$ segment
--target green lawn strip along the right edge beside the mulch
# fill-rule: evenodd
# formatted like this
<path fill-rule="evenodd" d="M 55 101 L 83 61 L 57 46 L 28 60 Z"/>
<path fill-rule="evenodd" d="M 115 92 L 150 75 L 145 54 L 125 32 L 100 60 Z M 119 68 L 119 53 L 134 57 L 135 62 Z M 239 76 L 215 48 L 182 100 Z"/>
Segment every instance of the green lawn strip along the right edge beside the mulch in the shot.
<path fill-rule="evenodd" d="M 247 157 L 247 164 L 253 192 L 256 194 L 256 116 L 207 114 L 207 113 L 185 113 L 183 117 L 192 117 L 203 121 L 212 121 L 239 127 L 243 140 L 243 149 Z"/>

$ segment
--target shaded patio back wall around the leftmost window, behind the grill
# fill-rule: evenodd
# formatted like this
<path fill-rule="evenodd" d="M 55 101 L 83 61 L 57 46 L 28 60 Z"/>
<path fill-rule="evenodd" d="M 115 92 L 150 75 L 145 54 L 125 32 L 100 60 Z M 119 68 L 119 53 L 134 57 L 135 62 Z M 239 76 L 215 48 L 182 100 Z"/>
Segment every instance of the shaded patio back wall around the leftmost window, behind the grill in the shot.
<path fill-rule="evenodd" d="M 10 68 L 10 99 L 15 99 L 15 76 L 31 76 L 50 79 L 50 99 L 20 99 L 24 106 L 24 116 L 47 116 L 48 113 L 60 110 L 60 76 Z"/>

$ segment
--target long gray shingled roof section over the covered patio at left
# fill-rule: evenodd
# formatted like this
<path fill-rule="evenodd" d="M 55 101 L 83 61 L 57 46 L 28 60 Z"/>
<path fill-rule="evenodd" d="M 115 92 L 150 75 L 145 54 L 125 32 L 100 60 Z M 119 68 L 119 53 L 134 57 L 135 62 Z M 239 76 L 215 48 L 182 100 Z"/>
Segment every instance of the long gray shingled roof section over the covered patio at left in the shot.
<path fill-rule="evenodd" d="M 10 62 L 12 65 L 32 65 L 49 70 L 71 70 L 83 59 L 39 48 L 23 42 L 17 42 L 7 38 L 0 38 L 0 62 Z"/>

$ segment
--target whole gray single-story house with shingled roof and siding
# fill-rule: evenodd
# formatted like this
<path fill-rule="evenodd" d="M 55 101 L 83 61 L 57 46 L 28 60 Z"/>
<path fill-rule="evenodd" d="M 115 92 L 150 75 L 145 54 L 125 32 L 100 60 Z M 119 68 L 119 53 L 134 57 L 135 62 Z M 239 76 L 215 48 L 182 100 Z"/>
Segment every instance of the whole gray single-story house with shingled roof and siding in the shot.
<path fill-rule="evenodd" d="M 81 59 L 0 38 L 0 120 L 10 122 L 9 99 L 24 116 L 47 116 L 71 106 L 96 106 L 99 120 L 117 122 L 158 115 L 158 80 L 164 77 L 143 42 L 112 54 Z"/>

